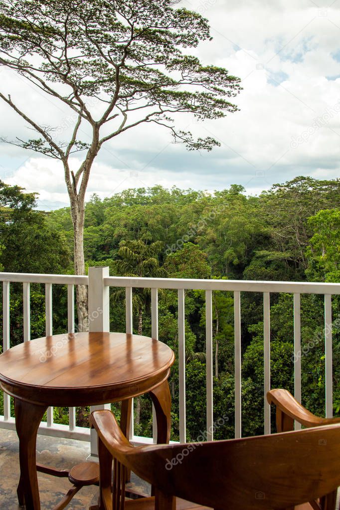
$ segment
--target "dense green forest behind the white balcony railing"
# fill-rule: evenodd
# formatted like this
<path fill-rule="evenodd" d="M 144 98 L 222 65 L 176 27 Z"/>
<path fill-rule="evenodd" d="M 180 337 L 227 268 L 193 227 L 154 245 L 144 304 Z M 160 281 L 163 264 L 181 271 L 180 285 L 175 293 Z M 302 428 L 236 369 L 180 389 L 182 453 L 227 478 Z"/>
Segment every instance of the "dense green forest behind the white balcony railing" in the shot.
<path fill-rule="evenodd" d="M 70 209 L 36 209 L 37 196 L 0 182 L 0 270 L 73 273 Z M 86 204 L 86 265 L 111 275 L 262 281 L 340 281 L 340 179 L 296 177 L 258 196 L 232 185 L 214 193 L 160 186 L 128 189 Z M 54 333 L 67 330 L 67 290 L 54 286 Z M 125 301 L 111 289 L 110 328 L 125 329 Z M 31 286 L 31 338 L 44 336 L 44 288 Z M 205 304 L 186 291 L 187 438 L 205 424 Z M 134 290 L 134 333 L 150 336 L 150 294 Z M 340 411 L 339 298 L 333 296 L 334 414 Z M 22 286 L 11 285 L 11 346 L 22 342 Z M 241 294 L 242 434 L 263 433 L 263 295 Z M 301 295 L 302 403 L 324 415 L 323 296 Z M 234 435 L 233 296 L 213 292 L 214 419 L 227 416 L 215 439 Z M 177 292 L 159 293 L 159 338 L 177 354 Z M 304 349 L 304 347 L 306 347 Z M 293 392 L 293 296 L 271 294 L 271 386 Z M 178 440 L 178 364 L 169 379 L 172 438 Z M 119 417 L 119 406 L 114 411 Z M 0 409 L 1 413 L 1 409 Z M 68 410 L 56 408 L 55 422 Z M 77 409 L 87 426 L 89 410 Z M 151 402 L 135 400 L 135 433 L 152 435 Z"/>

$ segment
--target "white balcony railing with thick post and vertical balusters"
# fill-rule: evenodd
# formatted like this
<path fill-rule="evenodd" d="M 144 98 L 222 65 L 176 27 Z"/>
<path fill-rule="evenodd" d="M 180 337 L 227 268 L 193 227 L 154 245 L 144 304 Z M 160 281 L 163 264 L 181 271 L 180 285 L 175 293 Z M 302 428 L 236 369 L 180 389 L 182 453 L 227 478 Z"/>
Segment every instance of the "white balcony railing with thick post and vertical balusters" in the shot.
<path fill-rule="evenodd" d="M 30 340 L 30 284 L 45 285 L 45 317 L 46 335 L 52 330 L 52 286 L 67 285 L 68 293 L 68 332 L 74 332 L 74 286 L 88 285 L 89 287 L 89 327 L 91 331 L 108 331 L 109 317 L 109 288 L 125 288 L 125 317 L 126 333 L 132 333 L 133 307 L 132 296 L 134 288 L 148 288 L 151 290 L 151 335 L 158 339 L 158 289 L 174 289 L 178 292 L 178 365 L 179 365 L 179 439 L 186 441 L 186 385 L 185 385 L 185 291 L 205 291 L 206 303 L 206 430 L 207 439 L 213 439 L 213 307 L 212 291 L 231 291 L 234 297 L 234 376 L 235 376 L 235 437 L 241 437 L 241 292 L 263 293 L 264 296 L 264 424 L 265 433 L 270 433 L 270 406 L 266 400 L 266 393 L 270 389 L 270 293 L 291 293 L 294 296 L 294 389 L 295 397 L 301 400 L 301 320 L 300 295 L 324 295 L 324 336 L 325 336 L 325 389 L 326 389 L 326 417 L 332 416 L 332 295 L 340 294 L 340 284 L 298 283 L 298 282 L 252 282 L 237 280 L 207 280 L 207 279 L 176 279 L 176 278 L 129 278 L 109 276 L 109 269 L 93 267 L 89 269 L 89 276 L 28 274 L 28 273 L 0 273 L 3 282 L 3 350 L 10 346 L 10 284 L 23 285 L 23 341 Z M 100 313 L 98 314 L 98 310 Z M 10 398 L 4 395 L 4 416 L 0 417 L 0 427 L 14 428 L 14 418 L 11 416 Z M 90 431 L 75 425 L 75 410 L 69 411 L 69 425 L 53 423 L 53 410 L 47 413 L 47 422 L 42 423 L 40 433 L 51 436 L 69 437 L 89 440 Z M 132 423 L 132 438 L 136 442 L 152 441 L 152 438 L 138 438 L 134 436 Z M 153 428 L 155 436 L 155 427 Z M 154 439 L 153 439 L 154 440 Z M 93 446 L 94 447 L 94 446 Z"/>

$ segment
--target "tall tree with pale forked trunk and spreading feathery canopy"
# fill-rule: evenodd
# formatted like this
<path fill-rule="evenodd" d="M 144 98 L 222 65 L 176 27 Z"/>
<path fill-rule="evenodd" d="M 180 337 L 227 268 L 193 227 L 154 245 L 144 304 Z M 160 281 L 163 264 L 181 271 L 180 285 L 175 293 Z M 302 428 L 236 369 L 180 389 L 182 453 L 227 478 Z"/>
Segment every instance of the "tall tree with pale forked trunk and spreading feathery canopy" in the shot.
<path fill-rule="evenodd" d="M 0 97 L 38 134 L 10 141 L 59 160 L 70 199 L 74 229 L 74 270 L 83 274 L 85 192 L 91 167 L 104 143 L 143 123 L 170 130 L 188 149 L 219 145 L 177 129 L 175 114 L 216 119 L 237 107 L 227 99 L 240 79 L 226 69 L 202 65 L 183 53 L 210 40 L 207 20 L 176 1 L 161 0 L 0 0 L 0 64 L 28 85 L 52 96 L 72 113 L 72 130 L 62 140 L 37 112 L 20 106 L 8 91 Z M 36 105 L 38 106 L 38 105 Z M 81 126 L 90 128 L 90 141 Z M 60 131 L 60 130 L 59 130 Z M 85 151 L 80 167 L 70 156 Z M 87 328 L 87 288 L 77 287 L 80 328 Z"/>

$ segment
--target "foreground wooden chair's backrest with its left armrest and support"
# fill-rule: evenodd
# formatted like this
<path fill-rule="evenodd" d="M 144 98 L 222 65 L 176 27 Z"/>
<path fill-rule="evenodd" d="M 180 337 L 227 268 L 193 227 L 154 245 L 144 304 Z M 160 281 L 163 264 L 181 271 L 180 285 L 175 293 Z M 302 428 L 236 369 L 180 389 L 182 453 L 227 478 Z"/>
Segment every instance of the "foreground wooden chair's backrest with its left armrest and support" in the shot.
<path fill-rule="evenodd" d="M 337 424 L 271 436 L 138 447 L 127 441 L 110 411 L 93 412 L 91 425 L 98 432 L 100 466 L 99 502 L 92 510 L 293 510 L 306 501 L 320 509 L 317 498 L 340 484 Z M 152 484 L 155 496 L 124 501 L 126 468 Z"/>

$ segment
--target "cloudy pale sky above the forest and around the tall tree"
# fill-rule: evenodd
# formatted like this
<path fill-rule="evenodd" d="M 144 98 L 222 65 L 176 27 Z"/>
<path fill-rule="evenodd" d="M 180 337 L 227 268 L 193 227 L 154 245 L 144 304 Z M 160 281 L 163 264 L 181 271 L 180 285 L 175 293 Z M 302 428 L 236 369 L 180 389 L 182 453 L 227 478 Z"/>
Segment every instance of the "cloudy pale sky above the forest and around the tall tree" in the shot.
<path fill-rule="evenodd" d="M 124 188 L 162 185 L 213 191 L 230 184 L 257 194 L 297 175 L 340 176 L 340 0 L 185 0 L 210 20 L 213 41 L 196 50 L 204 64 L 242 79 L 241 111 L 191 125 L 221 147 L 188 152 L 167 131 L 143 126 L 102 148 L 88 197 Z M 69 125 L 66 111 L 2 69 L 0 89 L 49 125 Z M 43 106 L 42 106 L 43 105 Z M 0 103 L 1 135 L 25 126 Z M 197 131 L 198 130 L 198 131 Z M 72 164 L 76 168 L 79 160 Z M 58 162 L 0 144 L 0 179 L 39 193 L 40 207 L 68 205 Z"/>

